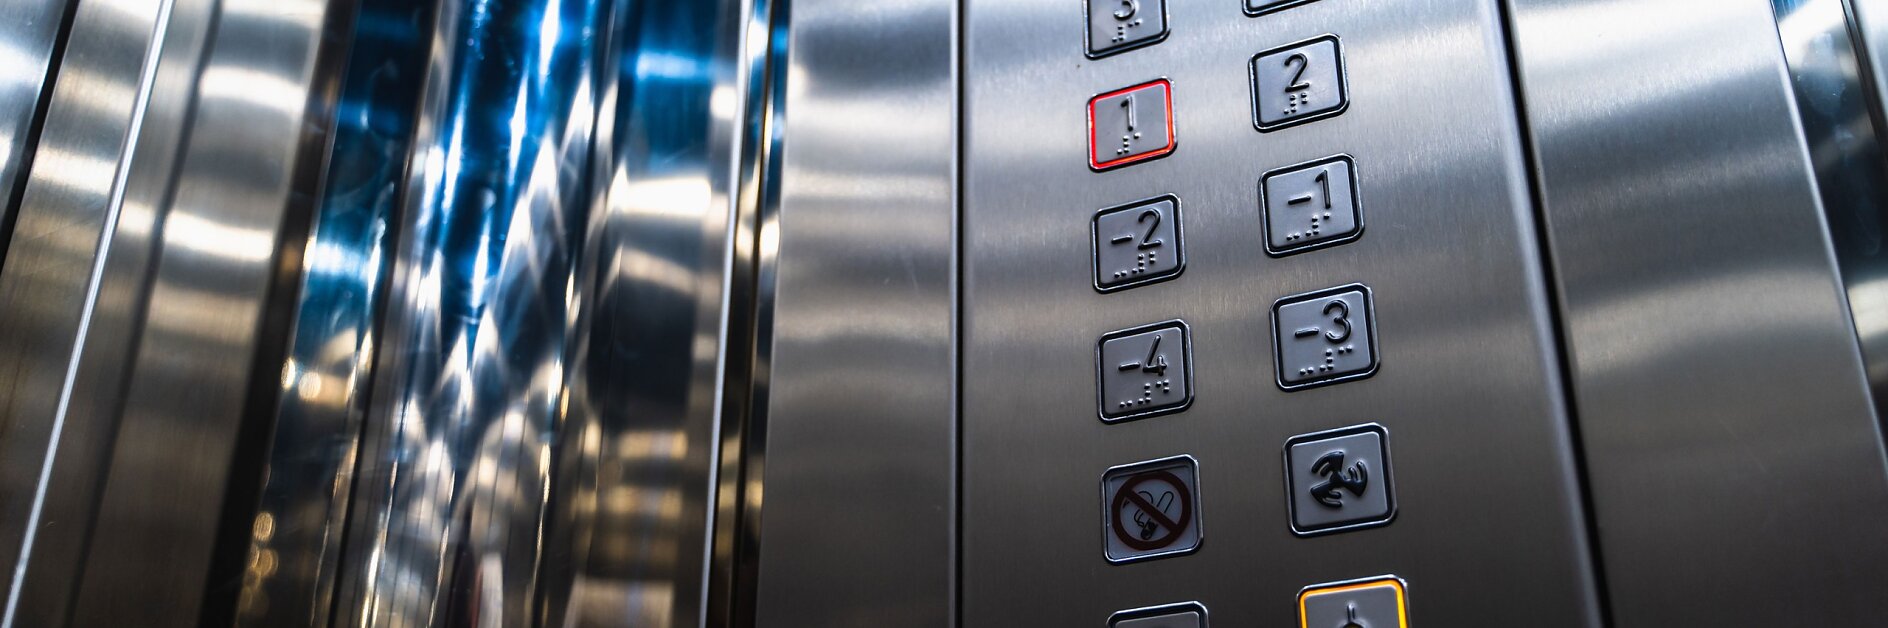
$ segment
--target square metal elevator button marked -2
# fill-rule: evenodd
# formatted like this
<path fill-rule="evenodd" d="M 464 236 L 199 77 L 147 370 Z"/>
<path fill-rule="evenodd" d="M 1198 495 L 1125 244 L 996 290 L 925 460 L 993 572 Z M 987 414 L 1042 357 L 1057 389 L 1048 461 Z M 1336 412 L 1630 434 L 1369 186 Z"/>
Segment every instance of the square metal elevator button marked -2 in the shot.
<path fill-rule="evenodd" d="M 1157 196 L 1095 213 L 1095 289 L 1108 292 L 1186 270 L 1180 198 Z"/>

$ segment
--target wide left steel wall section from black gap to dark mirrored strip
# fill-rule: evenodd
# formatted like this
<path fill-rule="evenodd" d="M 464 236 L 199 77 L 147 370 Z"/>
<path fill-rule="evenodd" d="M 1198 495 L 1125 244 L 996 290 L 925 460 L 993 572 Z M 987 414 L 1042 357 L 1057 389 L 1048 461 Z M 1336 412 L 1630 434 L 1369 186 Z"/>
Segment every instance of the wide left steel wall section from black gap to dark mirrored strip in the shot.
<path fill-rule="evenodd" d="M 6 504 L 21 509 L 6 522 L 25 528 L 8 539 L 19 549 L 8 624 L 191 626 L 227 613 L 202 603 L 223 590 L 206 583 L 228 558 L 225 488 L 255 428 L 255 383 L 276 381 L 266 311 L 281 264 L 295 264 L 281 234 L 306 215 L 319 166 L 302 157 L 325 145 L 327 126 L 304 121 L 327 111 L 315 60 L 329 8 L 87 2 L 76 13 L 0 275 L 0 315 L 19 330 L 4 351 L 19 360 L 8 460 L 32 466 L 6 473 Z"/>

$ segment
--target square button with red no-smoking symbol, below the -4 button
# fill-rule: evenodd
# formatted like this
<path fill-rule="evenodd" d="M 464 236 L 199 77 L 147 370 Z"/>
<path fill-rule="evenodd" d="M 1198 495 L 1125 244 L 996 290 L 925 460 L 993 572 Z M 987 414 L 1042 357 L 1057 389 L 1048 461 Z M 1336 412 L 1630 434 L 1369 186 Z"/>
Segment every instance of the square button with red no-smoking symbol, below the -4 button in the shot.
<path fill-rule="evenodd" d="M 1199 462 L 1172 456 L 1101 475 L 1103 554 L 1112 564 L 1199 549 Z"/>

